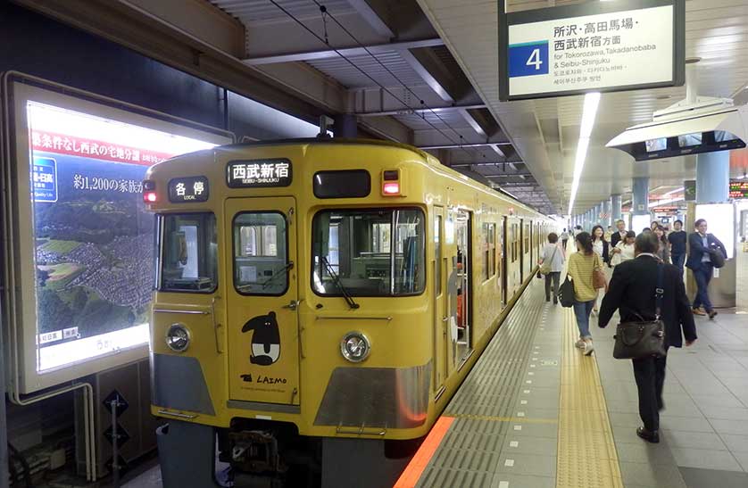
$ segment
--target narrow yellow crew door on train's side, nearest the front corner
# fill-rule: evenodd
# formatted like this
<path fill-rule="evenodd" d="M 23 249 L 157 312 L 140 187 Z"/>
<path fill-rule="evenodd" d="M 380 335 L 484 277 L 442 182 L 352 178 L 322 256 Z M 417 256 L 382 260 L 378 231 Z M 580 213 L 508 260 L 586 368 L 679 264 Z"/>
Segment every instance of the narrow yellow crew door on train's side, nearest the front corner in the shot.
<path fill-rule="evenodd" d="M 434 261 L 431 263 L 432 279 L 434 287 L 434 381 L 433 390 L 436 391 L 444 385 L 445 378 L 449 375 L 449 350 L 446 337 L 449 333 L 449 315 L 446 307 L 445 279 L 446 252 L 445 252 L 445 209 L 434 207 Z"/>

